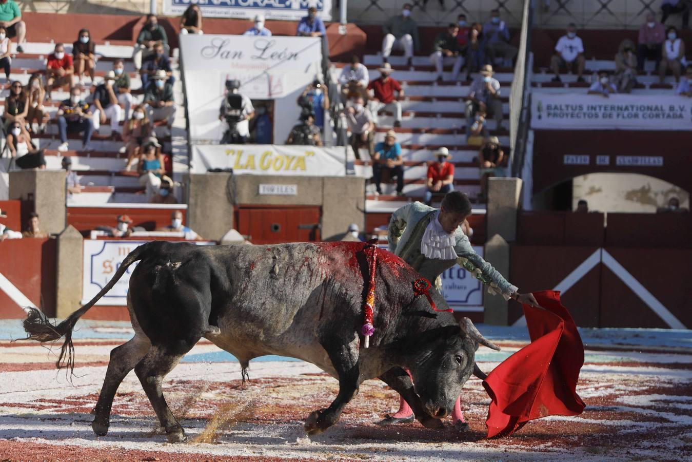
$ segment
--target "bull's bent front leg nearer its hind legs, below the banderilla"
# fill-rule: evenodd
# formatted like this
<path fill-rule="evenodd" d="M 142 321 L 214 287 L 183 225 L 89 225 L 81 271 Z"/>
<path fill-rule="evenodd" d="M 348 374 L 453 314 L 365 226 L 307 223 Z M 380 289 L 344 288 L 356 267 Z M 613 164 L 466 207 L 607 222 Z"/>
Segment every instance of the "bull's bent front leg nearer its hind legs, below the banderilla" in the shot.
<path fill-rule="evenodd" d="M 358 394 L 358 338 L 323 339 L 321 343 L 338 374 L 339 393 L 327 409 L 313 411 L 305 420 L 305 432 L 310 436 L 318 435 L 337 423 L 344 406 Z"/>

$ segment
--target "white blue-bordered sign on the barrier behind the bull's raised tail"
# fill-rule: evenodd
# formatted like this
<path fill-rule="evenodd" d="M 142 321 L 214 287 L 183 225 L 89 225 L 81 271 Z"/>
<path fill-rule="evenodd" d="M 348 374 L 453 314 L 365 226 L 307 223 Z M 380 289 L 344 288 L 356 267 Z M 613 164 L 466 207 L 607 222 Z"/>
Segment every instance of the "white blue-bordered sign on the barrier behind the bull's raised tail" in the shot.
<path fill-rule="evenodd" d="M 118 271 L 127 254 L 149 241 L 145 240 L 84 240 L 84 265 L 82 266 L 82 304 L 93 299 Z M 183 241 L 180 241 L 183 242 Z M 194 242 L 198 245 L 215 245 L 215 242 Z M 127 306 L 129 276 L 137 267 L 135 262 L 122 275 L 120 281 L 102 296 L 96 305 Z"/>

